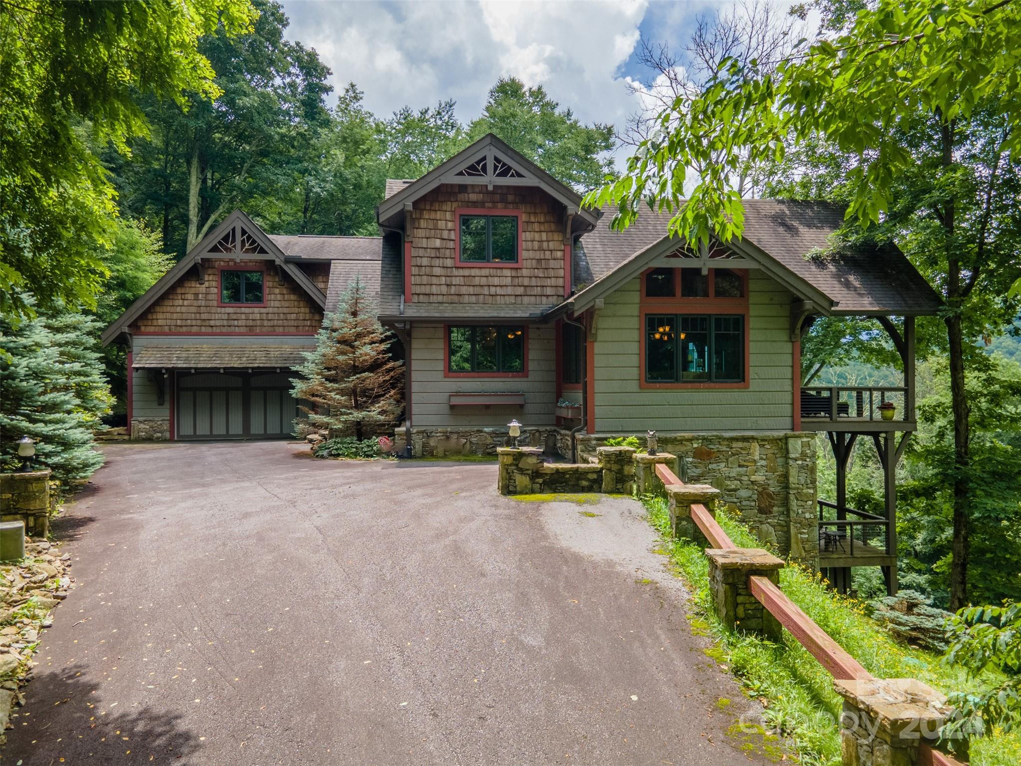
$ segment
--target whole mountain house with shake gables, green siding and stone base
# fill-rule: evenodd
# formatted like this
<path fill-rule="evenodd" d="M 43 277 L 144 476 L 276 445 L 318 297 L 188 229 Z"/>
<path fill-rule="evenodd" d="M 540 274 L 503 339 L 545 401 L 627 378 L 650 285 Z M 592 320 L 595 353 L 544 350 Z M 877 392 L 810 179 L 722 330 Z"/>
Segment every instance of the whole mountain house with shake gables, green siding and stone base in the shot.
<path fill-rule="evenodd" d="M 915 430 L 914 318 L 940 301 L 895 247 L 817 255 L 842 222 L 835 206 L 745 210 L 741 240 L 702 252 L 667 236 L 665 213 L 614 232 L 489 135 L 388 182 L 378 238 L 274 236 L 232 213 L 103 340 L 130 344 L 134 437 L 283 435 L 296 413 L 288 368 L 360 275 L 405 355 L 398 448 L 492 452 L 517 419 L 530 443 L 584 460 L 610 436 L 654 429 L 682 479 L 717 485 L 764 540 L 835 579 L 865 557 L 892 589 L 891 516 L 848 520 L 841 489 L 825 526 L 813 432 L 830 434 L 844 468 L 857 436 L 873 438 L 892 508 Z M 903 386 L 803 390 L 801 335 L 834 315 L 880 319 Z"/>

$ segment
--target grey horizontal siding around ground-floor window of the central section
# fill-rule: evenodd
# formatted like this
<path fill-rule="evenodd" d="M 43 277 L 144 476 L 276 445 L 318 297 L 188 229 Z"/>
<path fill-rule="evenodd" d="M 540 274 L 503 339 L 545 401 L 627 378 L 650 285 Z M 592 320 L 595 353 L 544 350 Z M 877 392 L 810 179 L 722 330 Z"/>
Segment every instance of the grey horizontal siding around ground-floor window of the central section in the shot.
<path fill-rule="evenodd" d="M 505 428 L 517 418 L 529 428 L 553 425 L 556 403 L 552 325 L 528 328 L 528 375 L 517 378 L 444 376 L 442 325 L 416 323 L 411 333 L 411 422 L 416 428 Z M 523 392 L 524 406 L 450 405 L 451 393 Z"/>

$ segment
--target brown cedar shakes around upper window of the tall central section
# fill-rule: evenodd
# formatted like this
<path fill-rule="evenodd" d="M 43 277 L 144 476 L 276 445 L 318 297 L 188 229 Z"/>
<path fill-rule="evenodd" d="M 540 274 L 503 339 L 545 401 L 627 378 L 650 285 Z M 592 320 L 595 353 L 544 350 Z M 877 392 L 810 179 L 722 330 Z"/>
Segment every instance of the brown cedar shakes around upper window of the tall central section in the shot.
<path fill-rule="evenodd" d="M 555 304 L 564 299 L 564 205 L 540 189 L 443 184 L 415 200 L 411 300 Z M 456 264 L 457 208 L 521 212 L 520 268 Z M 488 267 L 488 268 L 487 268 Z"/>

